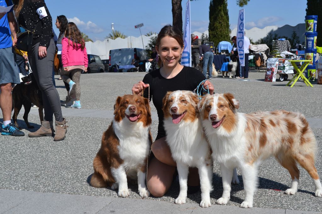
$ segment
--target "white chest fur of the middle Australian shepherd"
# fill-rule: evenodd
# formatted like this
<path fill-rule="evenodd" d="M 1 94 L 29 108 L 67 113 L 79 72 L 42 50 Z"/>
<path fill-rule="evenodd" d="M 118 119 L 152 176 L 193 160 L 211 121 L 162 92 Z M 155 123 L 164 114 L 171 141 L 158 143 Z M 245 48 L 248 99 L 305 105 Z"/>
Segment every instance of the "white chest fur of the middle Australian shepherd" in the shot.
<path fill-rule="evenodd" d="M 199 120 L 174 124 L 171 118 L 166 118 L 165 129 L 166 141 L 176 162 L 196 166 L 200 158 L 204 160 L 209 155 L 209 146 Z"/>

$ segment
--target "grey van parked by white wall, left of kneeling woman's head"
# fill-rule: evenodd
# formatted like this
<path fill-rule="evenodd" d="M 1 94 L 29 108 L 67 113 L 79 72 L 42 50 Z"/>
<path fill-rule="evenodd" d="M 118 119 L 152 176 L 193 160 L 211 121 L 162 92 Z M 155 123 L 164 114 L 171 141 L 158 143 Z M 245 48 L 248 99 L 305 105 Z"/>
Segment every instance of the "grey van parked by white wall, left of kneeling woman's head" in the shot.
<path fill-rule="evenodd" d="M 147 59 L 144 49 L 141 48 L 121 48 L 109 51 L 109 66 L 115 63 L 118 65 L 131 65 L 132 59 Z"/>

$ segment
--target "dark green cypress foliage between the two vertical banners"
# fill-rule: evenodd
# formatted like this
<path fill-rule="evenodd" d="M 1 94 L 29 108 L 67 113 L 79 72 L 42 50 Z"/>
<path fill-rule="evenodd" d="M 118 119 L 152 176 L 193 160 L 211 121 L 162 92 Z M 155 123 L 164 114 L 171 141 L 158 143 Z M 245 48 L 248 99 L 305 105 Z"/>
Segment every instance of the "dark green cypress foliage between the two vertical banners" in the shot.
<path fill-rule="evenodd" d="M 209 40 L 214 46 L 221 41 L 230 41 L 227 0 L 211 0 L 209 5 Z"/>

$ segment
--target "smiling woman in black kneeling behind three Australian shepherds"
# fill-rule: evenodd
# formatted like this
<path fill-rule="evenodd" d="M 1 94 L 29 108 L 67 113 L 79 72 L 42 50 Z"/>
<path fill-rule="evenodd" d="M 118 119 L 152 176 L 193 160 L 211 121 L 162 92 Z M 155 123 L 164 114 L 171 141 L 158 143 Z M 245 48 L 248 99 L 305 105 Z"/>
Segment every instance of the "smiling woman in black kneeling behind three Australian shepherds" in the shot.
<path fill-rule="evenodd" d="M 149 100 L 153 100 L 159 118 L 158 133 L 151 146 L 152 153 L 147 168 L 147 188 L 155 197 L 162 197 L 168 191 L 176 172 L 176 163 L 166 143 L 162 99 L 168 91 L 193 91 L 205 79 L 199 70 L 179 64 L 183 48 L 184 41 L 181 31 L 171 25 L 164 26 L 156 39 L 156 52 L 159 56 L 158 65 L 160 68 L 147 74 L 143 81 L 135 84 L 132 88 L 132 94 L 142 95 L 144 91 L 146 98 L 150 93 Z M 209 87 L 210 94 L 213 94 L 214 88 L 211 82 L 205 81 L 204 87 L 206 86 Z M 147 87 L 149 89 L 144 90 Z M 199 190 L 197 168 L 189 169 L 188 185 L 190 185 L 188 193 Z"/>

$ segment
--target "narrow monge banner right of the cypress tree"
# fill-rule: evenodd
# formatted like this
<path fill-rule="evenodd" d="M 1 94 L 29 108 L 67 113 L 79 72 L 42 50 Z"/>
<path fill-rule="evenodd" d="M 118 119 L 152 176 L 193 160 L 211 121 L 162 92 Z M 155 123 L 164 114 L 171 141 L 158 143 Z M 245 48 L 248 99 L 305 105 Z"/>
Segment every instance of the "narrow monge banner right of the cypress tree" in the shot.
<path fill-rule="evenodd" d="M 245 53 L 244 53 L 244 23 L 245 23 L 245 10 L 241 9 L 238 15 L 238 25 L 237 25 L 237 51 L 239 56 L 239 62 L 241 66 L 245 66 Z"/>

